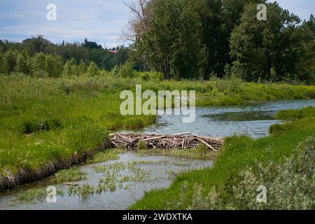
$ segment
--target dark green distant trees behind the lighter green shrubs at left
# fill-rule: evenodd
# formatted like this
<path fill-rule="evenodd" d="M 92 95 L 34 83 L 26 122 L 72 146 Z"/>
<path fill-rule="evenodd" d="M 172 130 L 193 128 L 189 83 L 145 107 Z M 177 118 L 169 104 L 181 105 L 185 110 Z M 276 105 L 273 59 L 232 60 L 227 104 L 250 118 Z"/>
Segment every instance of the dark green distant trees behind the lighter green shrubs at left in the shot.
<path fill-rule="evenodd" d="M 32 36 L 31 38 L 22 41 L 22 43 L 3 40 L 0 41 L 0 51 L 2 51 L 3 54 L 9 52 L 5 62 L 6 64 L 9 62 L 10 66 L 8 68 L 9 70 L 2 69 L 0 66 L 0 73 L 11 73 L 15 71 L 15 63 L 18 57 L 16 51 L 25 51 L 30 57 L 34 57 L 34 55 L 38 53 L 43 53 L 45 55 L 59 55 L 62 59 L 62 63 L 72 58 L 75 60 L 76 64 L 80 62 L 90 64 L 90 62 L 93 61 L 100 69 L 111 71 L 114 66 L 124 64 L 129 57 L 129 48 L 118 46 L 116 49 L 118 50 L 118 53 L 113 54 L 109 52 L 109 49 L 102 48 L 101 45 L 98 45 L 95 42 L 87 41 L 86 38 L 83 43 L 64 43 L 63 41 L 58 44 L 51 43 L 42 35 Z M 27 63 L 26 59 L 24 60 L 24 63 Z M 36 69 L 36 71 L 38 71 L 38 69 Z"/>

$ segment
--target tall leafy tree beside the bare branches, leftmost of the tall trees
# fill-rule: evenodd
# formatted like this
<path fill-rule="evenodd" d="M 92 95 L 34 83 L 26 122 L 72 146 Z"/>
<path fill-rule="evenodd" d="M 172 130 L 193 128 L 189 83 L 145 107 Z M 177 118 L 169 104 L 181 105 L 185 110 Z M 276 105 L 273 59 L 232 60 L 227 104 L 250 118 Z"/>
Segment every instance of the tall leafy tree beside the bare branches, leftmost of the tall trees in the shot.
<path fill-rule="evenodd" d="M 153 16 L 146 29 L 135 30 L 134 50 L 165 79 L 196 78 L 202 69 L 204 46 L 200 36 L 200 18 L 189 0 L 155 0 L 145 7 Z M 154 19 L 152 19 L 154 18 Z M 143 23 L 143 21 L 139 21 Z M 137 27 L 137 26 L 136 26 Z"/>

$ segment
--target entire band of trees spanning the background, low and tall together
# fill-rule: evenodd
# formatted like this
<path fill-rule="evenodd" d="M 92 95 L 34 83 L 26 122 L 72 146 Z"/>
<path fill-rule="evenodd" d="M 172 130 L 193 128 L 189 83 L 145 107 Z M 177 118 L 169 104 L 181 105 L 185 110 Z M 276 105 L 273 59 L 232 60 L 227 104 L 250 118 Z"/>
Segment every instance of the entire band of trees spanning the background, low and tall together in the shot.
<path fill-rule="evenodd" d="M 266 3 L 265 1 L 260 1 Z M 164 79 L 235 76 L 253 82 L 314 84 L 315 18 L 301 21 L 278 3 L 257 1 L 141 0 L 117 52 L 96 42 L 51 43 L 38 34 L 22 43 L 0 41 L 0 73 L 36 77 L 98 75 L 99 70 L 158 71 Z M 132 75 L 129 75 L 132 76 Z"/>

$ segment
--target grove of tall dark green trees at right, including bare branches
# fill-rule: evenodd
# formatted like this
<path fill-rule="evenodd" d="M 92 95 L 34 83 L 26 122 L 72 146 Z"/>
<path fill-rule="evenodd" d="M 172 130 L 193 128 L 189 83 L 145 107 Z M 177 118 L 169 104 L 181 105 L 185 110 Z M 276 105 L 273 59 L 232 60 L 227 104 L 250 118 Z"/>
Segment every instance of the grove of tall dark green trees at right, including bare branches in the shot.
<path fill-rule="evenodd" d="M 257 5 L 267 20 L 257 19 Z M 315 79 L 315 20 L 257 0 L 139 0 L 124 37 L 131 57 L 169 78 Z"/>

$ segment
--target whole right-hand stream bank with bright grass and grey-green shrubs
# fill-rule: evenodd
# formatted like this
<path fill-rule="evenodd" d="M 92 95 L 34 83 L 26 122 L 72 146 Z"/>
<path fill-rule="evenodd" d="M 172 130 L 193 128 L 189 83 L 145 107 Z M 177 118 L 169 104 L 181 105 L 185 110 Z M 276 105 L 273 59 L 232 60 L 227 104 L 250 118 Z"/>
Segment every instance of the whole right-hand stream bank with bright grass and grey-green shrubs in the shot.
<path fill-rule="evenodd" d="M 181 174 L 130 209 L 315 209 L 314 112 L 281 111 L 278 118 L 304 118 L 270 137 L 225 139 L 214 168 Z M 259 186 L 267 188 L 267 203 L 256 202 Z"/>

